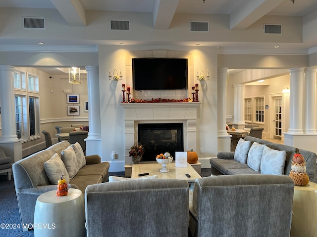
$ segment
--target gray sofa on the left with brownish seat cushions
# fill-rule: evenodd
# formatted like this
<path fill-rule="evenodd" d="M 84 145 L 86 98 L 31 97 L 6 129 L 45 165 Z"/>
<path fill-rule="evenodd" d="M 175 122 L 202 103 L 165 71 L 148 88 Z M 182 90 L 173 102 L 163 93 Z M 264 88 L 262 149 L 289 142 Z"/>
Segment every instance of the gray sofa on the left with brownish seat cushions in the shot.
<path fill-rule="evenodd" d="M 48 191 L 56 190 L 45 171 L 44 163 L 54 154 L 61 157 L 63 150 L 70 146 L 68 141 L 59 142 L 46 150 L 23 158 L 12 165 L 15 192 L 18 200 L 21 222 L 33 223 L 34 208 L 37 198 Z M 101 162 L 98 155 L 86 156 L 86 165 L 71 178 L 69 188 L 80 189 L 85 193 L 88 185 L 99 184 L 108 180 L 108 162 Z"/>

